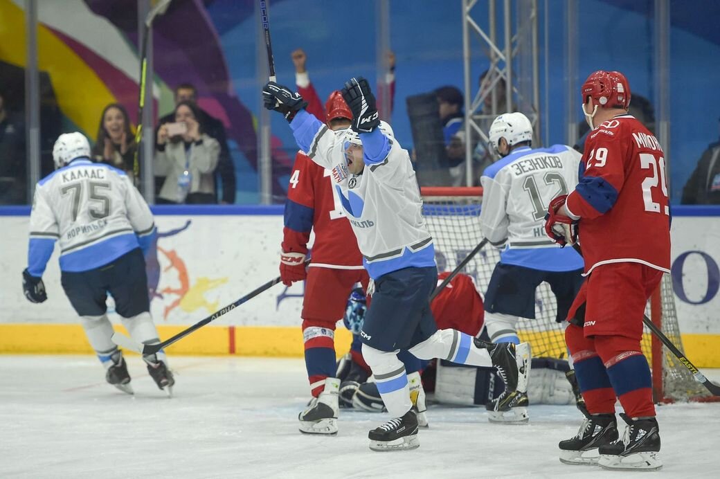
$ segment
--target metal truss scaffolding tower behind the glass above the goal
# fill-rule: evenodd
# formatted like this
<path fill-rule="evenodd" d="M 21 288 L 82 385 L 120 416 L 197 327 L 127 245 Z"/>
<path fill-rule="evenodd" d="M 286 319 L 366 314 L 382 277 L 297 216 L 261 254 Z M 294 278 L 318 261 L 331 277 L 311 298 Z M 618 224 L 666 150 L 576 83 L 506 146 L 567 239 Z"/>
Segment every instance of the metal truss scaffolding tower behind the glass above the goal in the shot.
<path fill-rule="evenodd" d="M 502 3 L 501 9 L 497 8 L 498 3 Z M 483 2 L 487 5 L 485 21 L 479 18 L 485 12 L 480 13 L 480 8 L 475 8 L 477 4 L 477 0 L 462 0 L 465 158 L 468 159 L 472 158 L 478 141 L 489 148 L 487 130 L 501 113 L 523 112 L 534 127 L 534 143 L 539 144 L 541 138 L 537 0 L 487 0 Z M 486 25 L 485 28 L 481 24 Z M 477 42 L 474 45 L 472 40 L 480 40 L 480 45 Z M 480 48 L 490 60 L 482 84 L 473 81 L 473 48 Z M 465 161 L 465 165 L 467 186 L 472 186 L 472 161 Z"/>

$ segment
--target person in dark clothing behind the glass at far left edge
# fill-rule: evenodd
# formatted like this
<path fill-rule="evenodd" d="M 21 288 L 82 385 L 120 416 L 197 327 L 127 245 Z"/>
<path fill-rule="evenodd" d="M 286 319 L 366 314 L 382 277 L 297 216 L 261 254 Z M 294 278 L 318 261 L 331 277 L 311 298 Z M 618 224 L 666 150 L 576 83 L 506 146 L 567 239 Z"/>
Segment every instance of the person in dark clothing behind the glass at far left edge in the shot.
<path fill-rule="evenodd" d="M 27 202 L 25 127 L 5 98 L 0 90 L 0 205 L 22 205 Z"/>

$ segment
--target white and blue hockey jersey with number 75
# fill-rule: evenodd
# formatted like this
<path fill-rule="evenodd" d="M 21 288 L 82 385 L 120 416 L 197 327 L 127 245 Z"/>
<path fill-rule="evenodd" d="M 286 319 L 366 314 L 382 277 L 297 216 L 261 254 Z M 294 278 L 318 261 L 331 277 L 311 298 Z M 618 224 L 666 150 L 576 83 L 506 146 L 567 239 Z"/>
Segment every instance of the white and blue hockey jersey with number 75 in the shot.
<path fill-rule="evenodd" d="M 35 186 L 30 213 L 28 272 L 40 277 L 60 246 L 60 269 L 101 267 L 141 247 L 155 234 L 150 207 L 125 172 L 77 158 Z"/>

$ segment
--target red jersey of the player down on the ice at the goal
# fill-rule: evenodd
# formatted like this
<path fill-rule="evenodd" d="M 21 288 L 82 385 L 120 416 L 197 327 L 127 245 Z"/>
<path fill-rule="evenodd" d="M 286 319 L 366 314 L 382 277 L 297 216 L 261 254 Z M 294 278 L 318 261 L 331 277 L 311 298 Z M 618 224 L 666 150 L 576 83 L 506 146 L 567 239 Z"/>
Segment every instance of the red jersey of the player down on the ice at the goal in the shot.
<path fill-rule="evenodd" d="M 438 285 L 449 274 L 438 274 Z M 476 336 L 485 321 L 482 298 L 467 274 L 459 273 L 451 279 L 450 284 L 430 304 L 430 308 L 440 329 L 452 328 Z"/>

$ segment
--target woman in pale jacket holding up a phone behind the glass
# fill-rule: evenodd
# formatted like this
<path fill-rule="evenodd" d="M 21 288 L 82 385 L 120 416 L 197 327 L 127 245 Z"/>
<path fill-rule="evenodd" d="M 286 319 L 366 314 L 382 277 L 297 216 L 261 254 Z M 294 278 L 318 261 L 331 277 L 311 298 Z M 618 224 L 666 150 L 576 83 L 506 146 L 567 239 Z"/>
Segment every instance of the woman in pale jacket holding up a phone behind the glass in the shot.
<path fill-rule="evenodd" d="M 215 203 L 220 144 L 204 133 L 194 102 L 179 102 L 174 117 L 158 129 L 155 169 L 165 181 L 156 202 Z"/>

